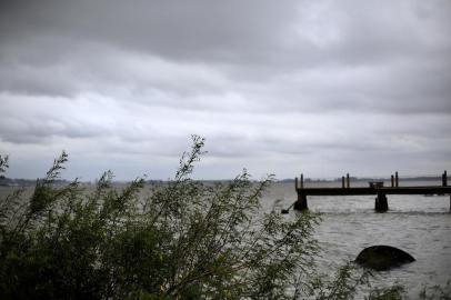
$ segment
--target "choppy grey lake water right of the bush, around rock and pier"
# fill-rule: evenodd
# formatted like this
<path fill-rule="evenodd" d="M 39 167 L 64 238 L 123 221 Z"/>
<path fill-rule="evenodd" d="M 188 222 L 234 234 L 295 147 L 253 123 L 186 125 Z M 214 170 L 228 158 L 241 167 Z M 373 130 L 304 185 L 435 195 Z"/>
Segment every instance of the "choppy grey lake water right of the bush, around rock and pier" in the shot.
<path fill-rule="evenodd" d="M 307 183 L 307 187 L 340 187 L 341 182 Z M 365 182 L 351 186 L 368 184 Z M 389 186 L 390 183 L 385 183 Z M 400 186 L 440 186 L 441 182 L 400 182 Z M 389 211 L 374 212 L 375 196 L 308 197 L 309 209 L 321 213 L 315 238 L 322 248 L 319 263 L 323 271 L 354 260 L 369 246 L 389 244 L 412 254 L 417 261 L 379 272 L 375 286 L 401 283 L 415 299 L 423 284 L 444 284 L 451 280 L 450 196 L 387 196 Z M 275 183 L 264 196 L 269 209 L 288 208 L 295 199 L 293 183 Z M 290 211 L 290 214 L 295 213 Z M 288 217 L 290 218 L 290 217 Z"/>

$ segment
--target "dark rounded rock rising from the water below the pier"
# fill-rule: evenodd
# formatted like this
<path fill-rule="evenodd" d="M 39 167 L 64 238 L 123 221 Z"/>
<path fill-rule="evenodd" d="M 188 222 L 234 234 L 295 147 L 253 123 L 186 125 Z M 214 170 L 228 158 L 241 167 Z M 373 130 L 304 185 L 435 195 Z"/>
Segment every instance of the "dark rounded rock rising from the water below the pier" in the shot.
<path fill-rule="evenodd" d="M 363 267 L 382 271 L 414 260 L 411 254 L 401 249 L 380 244 L 363 249 L 357 257 L 355 262 Z"/>

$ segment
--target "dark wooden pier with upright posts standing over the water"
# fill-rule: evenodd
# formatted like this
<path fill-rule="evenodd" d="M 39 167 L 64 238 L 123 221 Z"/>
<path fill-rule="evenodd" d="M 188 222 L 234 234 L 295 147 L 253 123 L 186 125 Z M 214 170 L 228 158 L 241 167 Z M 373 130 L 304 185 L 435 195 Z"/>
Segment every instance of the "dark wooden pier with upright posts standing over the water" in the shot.
<path fill-rule="evenodd" d="M 351 188 L 349 173 L 341 179 L 341 188 L 305 188 L 303 174 L 294 180 L 298 200 L 294 202 L 295 210 L 305 210 L 309 208 L 308 196 L 364 196 L 374 194 L 374 210 L 385 212 L 389 209 L 387 194 L 450 194 L 451 210 L 451 187 L 448 186 L 447 171 L 442 173 L 442 186 L 425 187 L 400 187 L 398 172 L 391 176 L 391 187 L 383 187 L 383 181 L 369 182 L 368 187 Z"/>

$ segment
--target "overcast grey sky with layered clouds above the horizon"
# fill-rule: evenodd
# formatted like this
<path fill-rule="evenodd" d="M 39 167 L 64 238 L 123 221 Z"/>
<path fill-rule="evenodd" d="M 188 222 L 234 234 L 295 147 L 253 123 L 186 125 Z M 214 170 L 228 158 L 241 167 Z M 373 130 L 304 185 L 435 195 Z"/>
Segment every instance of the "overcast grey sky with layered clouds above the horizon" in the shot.
<path fill-rule="evenodd" d="M 449 0 L 1 0 L 9 177 L 451 171 Z"/>

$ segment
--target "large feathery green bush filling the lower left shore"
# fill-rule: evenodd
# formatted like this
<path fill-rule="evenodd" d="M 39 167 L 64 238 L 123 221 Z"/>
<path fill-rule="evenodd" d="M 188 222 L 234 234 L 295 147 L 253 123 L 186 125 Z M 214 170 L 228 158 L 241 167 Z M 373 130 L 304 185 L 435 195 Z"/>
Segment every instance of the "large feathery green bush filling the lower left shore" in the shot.
<path fill-rule="evenodd" d="M 173 180 L 147 198 L 142 178 L 117 188 L 110 171 L 93 191 L 57 187 L 62 152 L 30 199 L 1 199 L 0 298 L 290 298 L 317 251 L 317 217 L 262 212 L 271 176 L 192 180 L 202 147 L 193 137 Z"/>

